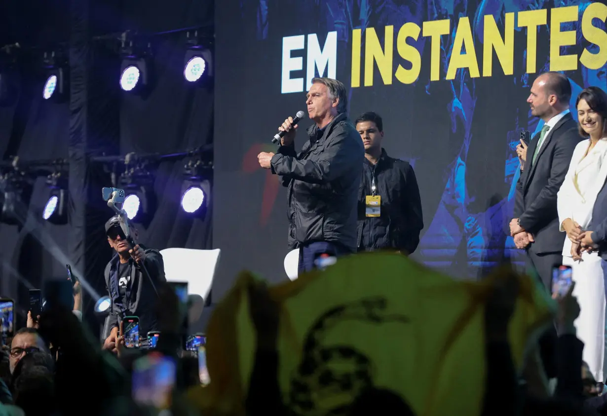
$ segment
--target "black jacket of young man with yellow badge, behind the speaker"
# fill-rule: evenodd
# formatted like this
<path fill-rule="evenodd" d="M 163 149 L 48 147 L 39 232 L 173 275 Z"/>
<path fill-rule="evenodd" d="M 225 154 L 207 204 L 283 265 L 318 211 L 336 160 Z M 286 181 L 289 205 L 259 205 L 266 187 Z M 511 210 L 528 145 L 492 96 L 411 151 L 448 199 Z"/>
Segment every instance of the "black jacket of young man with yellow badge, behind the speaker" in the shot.
<path fill-rule="evenodd" d="M 365 198 L 371 195 L 375 177 L 381 197 L 380 216 L 365 216 Z M 413 253 L 424 228 L 421 199 L 415 172 L 404 160 L 393 159 L 382 149 L 375 165 L 365 159 L 358 199 L 358 250 L 393 248 Z"/>

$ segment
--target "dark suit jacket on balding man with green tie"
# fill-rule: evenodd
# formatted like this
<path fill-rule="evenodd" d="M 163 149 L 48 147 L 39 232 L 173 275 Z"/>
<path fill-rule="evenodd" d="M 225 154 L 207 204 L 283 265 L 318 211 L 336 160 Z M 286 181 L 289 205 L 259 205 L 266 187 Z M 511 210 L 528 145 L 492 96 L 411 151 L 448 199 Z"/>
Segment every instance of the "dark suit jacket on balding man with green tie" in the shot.
<path fill-rule="evenodd" d="M 571 114 L 566 114 L 548 132 L 535 164 L 531 165 L 538 137 L 539 133 L 527 148 L 527 163 L 517 183 L 514 217 L 520 218 L 521 226 L 534 235 L 531 250 L 560 253 L 565 233 L 559 230 L 557 193 L 569 170 L 575 146 L 583 138 Z"/>

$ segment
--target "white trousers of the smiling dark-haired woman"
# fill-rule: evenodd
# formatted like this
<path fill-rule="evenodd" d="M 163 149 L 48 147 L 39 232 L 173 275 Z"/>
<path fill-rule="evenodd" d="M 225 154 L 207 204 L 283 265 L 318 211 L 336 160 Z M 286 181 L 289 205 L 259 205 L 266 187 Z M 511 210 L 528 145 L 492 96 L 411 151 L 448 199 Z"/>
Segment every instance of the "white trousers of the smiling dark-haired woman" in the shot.
<path fill-rule="evenodd" d="M 601 258 L 597 253 L 583 253 L 582 260 L 574 262 L 563 256 L 563 264 L 571 266 L 575 282 L 573 296 L 580 304 L 580 316 L 575 319 L 577 338 L 584 343 L 583 360 L 588 363 L 595 380 L 605 381 L 605 279 Z"/>

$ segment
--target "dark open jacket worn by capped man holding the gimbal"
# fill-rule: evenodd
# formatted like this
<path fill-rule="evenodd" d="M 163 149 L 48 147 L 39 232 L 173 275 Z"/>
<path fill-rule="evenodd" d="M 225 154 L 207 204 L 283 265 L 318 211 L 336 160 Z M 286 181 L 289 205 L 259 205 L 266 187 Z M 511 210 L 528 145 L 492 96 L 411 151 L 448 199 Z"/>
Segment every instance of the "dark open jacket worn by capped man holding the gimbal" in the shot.
<path fill-rule="evenodd" d="M 164 262 L 162 254 L 158 250 L 152 248 L 145 248 L 140 244 L 140 247 L 144 249 L 146 253 L 146 259 L 144 264 L 146 270 L 150 274 L 150 277 L 154 280 L 156 288 L 160 287 L 161 282 L 166 282 L 166 276 L 164 276 Z M 118 327 L 118 307 L 114 304 L 114 298 L 119 296 L 116 292 L 118 291 L 118 285 L 113 284 L 110 281 L 112 267 L 118 259 L 118 254 L 112 257 L 112 260 L 106 265 L 104 271 L 104 277 L 106 279 L 106 289 L 110 296 L 111 304 L 109 308 L 109 319 L 106 321 L 106 325 L 110 329 Z M 143 269 L 141 267 L 131 268 L 131 296 L 129 297 L 129 305 L 127 307 L 129 312 L 138 316 L 140 336 L 145 338 L 146 334 L 151 330 L 157 330 L 157 317 L 156 308 L 158 303 L 158 296 L 154 292 L 149 279 L 143 275 Z"/>

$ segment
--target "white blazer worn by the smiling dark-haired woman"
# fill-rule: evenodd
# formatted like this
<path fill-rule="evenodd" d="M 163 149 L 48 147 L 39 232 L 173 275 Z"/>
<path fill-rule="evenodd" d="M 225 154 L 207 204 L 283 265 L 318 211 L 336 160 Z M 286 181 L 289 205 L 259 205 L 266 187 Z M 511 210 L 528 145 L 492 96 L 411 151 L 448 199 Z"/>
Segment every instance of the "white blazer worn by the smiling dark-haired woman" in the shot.
<path fill-rule="evenodd" d="M 607 137 L 603 137 L 584 157 L 590 139 L 575 146 L 565 182 L 557 194 L 558 222 L 560 230 L 563 221 L 571 218 L 582 230 L 588 227 L 592 219 L 592 208 L 599 191 L 607 178 Z M 563 256 L 571 257 L 571 240 L 565 239 Z"/>

